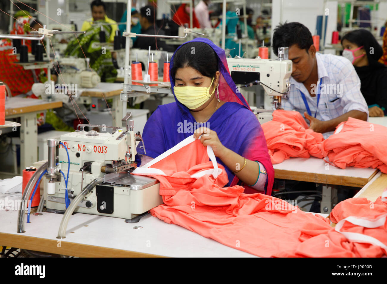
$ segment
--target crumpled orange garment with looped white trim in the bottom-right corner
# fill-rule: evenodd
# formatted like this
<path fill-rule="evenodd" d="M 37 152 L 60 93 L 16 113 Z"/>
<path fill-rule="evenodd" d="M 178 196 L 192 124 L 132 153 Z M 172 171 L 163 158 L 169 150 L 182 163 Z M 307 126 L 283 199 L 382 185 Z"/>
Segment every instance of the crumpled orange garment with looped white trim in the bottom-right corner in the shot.
<path fill-rule="evenodd" d="M 387 191 L 375 202 L 350 198 L 330 213 L 336 226 L 330 230 L 301 230 L 303 242 L 296 250 L 277 257 L 382 257 L 387 255 Z"/>

